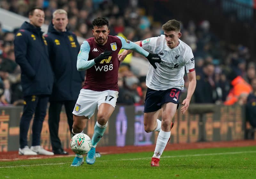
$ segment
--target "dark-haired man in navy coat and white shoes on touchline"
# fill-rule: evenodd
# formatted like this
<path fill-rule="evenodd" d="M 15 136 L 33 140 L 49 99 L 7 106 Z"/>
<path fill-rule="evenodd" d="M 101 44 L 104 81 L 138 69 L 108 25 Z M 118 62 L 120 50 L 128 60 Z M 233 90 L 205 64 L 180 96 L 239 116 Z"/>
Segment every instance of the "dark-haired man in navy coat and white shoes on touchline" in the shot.
<path fill-rule="evenodd" d="M 20 155 L 53 155 L 40 146 L 40 135 L 49 96 L 52 93 L 53 73 L 49 61 L 47 42 L 41 26 L 44 11 L 33 8 L 29 11 L 30 22 L 24 22 L 14 40 L 15 60 L 21 68 L 21 85 L 24 109 L 20 119 Z M 28 129 L 33 114 L 32 146 L 28 148 Z"/>

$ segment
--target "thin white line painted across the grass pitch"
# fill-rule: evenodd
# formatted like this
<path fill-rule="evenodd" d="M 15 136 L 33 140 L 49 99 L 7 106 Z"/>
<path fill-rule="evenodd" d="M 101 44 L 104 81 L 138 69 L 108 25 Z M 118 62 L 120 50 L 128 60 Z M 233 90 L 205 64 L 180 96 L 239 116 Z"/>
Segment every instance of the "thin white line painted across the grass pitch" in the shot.
<path fill-rule="evenodd" d="M 256 151 L 241 151 L 241 152 L 223 152 L 223 153 L 212 153 L 212 154 L 191 154 L 191 155 L 173 155 L 173 156 L 163 156 L 161 158 L 177 158 L 177 157 L 198 157 L 198 156 L 211 156 L 211 155 L 226 155 L 226 154 L 244 154 L 244 153 L 256 153 Z M 144 160 L 144 159 L 151 159 L 151 157 L 144 157 L 144 158 L 130 158 L 130 159 L 118 159 L 115 161 L 126 161 L 126 160 Z M 109 160 L 101 160 L 97 162 L 105 162 Z M 44 164 L 35 164 L 35 165 L 16 165 L 16 166 L 6 166 L 0 168 L 17 168 L 17 167 L 35 167 L 35 166 L 47 166 L 47 165 L 62 165 L 66 163 L 44 163 Z"/>

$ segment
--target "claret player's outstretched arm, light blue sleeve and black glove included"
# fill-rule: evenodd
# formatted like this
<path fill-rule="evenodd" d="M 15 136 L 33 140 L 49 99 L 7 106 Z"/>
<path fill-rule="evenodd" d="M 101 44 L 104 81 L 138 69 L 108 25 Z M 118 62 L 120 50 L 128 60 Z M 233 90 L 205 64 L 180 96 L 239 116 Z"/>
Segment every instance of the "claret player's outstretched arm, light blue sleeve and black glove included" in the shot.
<path fill-rule="evenodd" d="M 131 42 L 129 40 L 126 40 L 122 37 L 117 36 L 121 42 L 122 42 L 122 49 L 125 50 L 132 50 L 135 51 L 141 55 L 143 55 L 144 57 L 146 57 L 149 61 L 149 63 L 156 69 L 156 64 L 155 63 L 161 63 L 161 58 L 158 54 L 151 54 L 149 52 L 147 52 L 146 50 L 144 50 L 143 48 L 141 48 L 139 45 L 137 45 L 134 42 Z M 129 51 L 130 52 L 130 51 Z M 129 52 L 125 52 L 125 53 L 129 53 Z M 131 53 L 131 52 L 130 52 Z M 121 56 L 118 56 L 121 58 Z M 118 58 L 119 59 L 119 58 Z"/>

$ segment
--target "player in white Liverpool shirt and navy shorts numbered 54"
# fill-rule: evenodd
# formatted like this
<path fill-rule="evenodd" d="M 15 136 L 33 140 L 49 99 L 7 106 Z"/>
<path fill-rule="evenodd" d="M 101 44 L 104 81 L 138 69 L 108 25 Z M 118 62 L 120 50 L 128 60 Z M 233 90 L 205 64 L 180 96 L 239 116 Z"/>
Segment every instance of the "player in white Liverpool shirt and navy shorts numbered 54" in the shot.
<path fill-rule="evenodd" d="M 186 99 L 181 112 L 187 111 L 190 99 L 196 88 L 195 61 L 191 48 L 179 38 L 180 22 L 169 20 L 162 29 L 164 35 L 152 37 L 135 42 L 150 53 L 157 53 L 162 58 L 161 63 L 156 64 L 157 69 L 148 67 L 146 85 L 148 87 L 144 107 L 144 129 L 146 132 L 159 131 L 156 148 L 151 160 L 151 166 L 159 166 L 160 156 L 171 136 L 173 126 L 172 118 L 179 107 L 179 97 L 184 86 L 183 76 L 185 67 L 188 75 L 189 86 Z M 119 61 L 123 61 L 130 50 L 124 50 L 118 55 Z M 162 121 L 157 119 L 162 109 Z"/>

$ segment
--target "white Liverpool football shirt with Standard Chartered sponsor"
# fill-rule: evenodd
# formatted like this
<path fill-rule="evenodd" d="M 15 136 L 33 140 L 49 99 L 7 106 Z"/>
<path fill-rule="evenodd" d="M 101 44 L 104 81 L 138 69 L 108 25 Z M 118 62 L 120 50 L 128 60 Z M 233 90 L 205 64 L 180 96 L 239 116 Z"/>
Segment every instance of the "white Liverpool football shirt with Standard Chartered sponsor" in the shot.
<path fill-rule="evenodd" d="M 167 46 L 165 36 L 152 37 L 140 41 L 140 47 L 158 54 L 162 61 L 155 63 L 156 69 L 148 66 L 146 85 L 150 89 L 165 90 L 184 88 L 185 67 L 187 73 L 195 71 L 195 60 L 191 48 L 179 39 L 179 45 L 173 49 Z"/>

